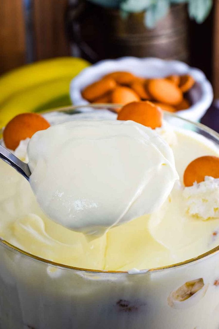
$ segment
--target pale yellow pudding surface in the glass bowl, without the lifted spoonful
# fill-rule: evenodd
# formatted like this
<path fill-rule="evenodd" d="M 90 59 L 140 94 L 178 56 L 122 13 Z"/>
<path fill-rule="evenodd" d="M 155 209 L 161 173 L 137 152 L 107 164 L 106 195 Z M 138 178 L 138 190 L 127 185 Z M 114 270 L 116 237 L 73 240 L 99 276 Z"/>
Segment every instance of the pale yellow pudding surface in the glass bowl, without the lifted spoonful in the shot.
<path fill-rule="evenodd" d="M 47 218 L 39 208 L 29 183 L 0 161 L 0 237 L 54 262 L 103 270 L 170 265 L 217 246 L 217 207 L 214 203 L 209 204 L 210 200 L 205 207 L 206 197 L 196 191 L 201 186 L 205 193 L 210 185 L 215 196 L 219 184 L 217 180 L 206 178 L 205 182 L 191 190 L 184 188 L 182 176 L 193 159 L 204 155 L 219 156 L 218 149 L 196 133 L 166 126 L 165 123 L 156 131 L 171 146 L 180 176 L 167 200 L 156 212 L 111 228 L 102 237 L 88 242 L 82 233 L 71 231 Z M 15 151 L 22 159 L 26 157 L 25 148 L 26 144 L 22 142 Z M 195 211 L 196 202 L 198 208 L 203 205 L 204 217 L 203 212 Z M 213 217 L 212 211 L 216 214 Z"/>

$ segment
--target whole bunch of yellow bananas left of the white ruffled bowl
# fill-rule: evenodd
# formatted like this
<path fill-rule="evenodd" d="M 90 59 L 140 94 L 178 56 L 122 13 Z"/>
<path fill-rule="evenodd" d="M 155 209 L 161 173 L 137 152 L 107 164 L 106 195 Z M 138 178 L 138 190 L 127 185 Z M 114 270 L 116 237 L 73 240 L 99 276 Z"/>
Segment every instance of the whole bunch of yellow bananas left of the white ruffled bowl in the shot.
<path fill-rule="evenodd" d="M 0 77 L 0 127 L 15 115 L 71 104 L 70 81 L 89 65 L 59 57 L 28 64 Z"/>

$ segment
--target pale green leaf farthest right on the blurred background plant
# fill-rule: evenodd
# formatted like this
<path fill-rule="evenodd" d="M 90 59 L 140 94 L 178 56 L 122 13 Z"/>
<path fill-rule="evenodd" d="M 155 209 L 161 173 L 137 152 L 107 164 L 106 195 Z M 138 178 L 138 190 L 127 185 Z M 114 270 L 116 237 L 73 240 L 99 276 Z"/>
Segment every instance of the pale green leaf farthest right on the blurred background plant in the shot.
<path fill-rule="evenodd" d="M 212 5 L 212 0 L 189 0 L 189 17 L 194 18 L 197 23 L 202 23 L 210 13 Z"/>

